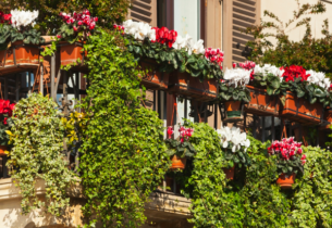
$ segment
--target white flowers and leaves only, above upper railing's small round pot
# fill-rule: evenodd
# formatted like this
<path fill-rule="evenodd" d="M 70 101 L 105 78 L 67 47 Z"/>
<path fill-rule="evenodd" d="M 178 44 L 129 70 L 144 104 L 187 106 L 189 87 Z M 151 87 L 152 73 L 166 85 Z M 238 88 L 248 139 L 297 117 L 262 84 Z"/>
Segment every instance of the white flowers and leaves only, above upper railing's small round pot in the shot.
<path fill-rule="evenodd" d="M 223 76 L 224 81 L 220 84 L 220 98 L 223 101 L 244 101 L 251 100 L 250 91 L 246 85 L 250 81 L 250 71 L 236 67 L 226 69 Z"/>

